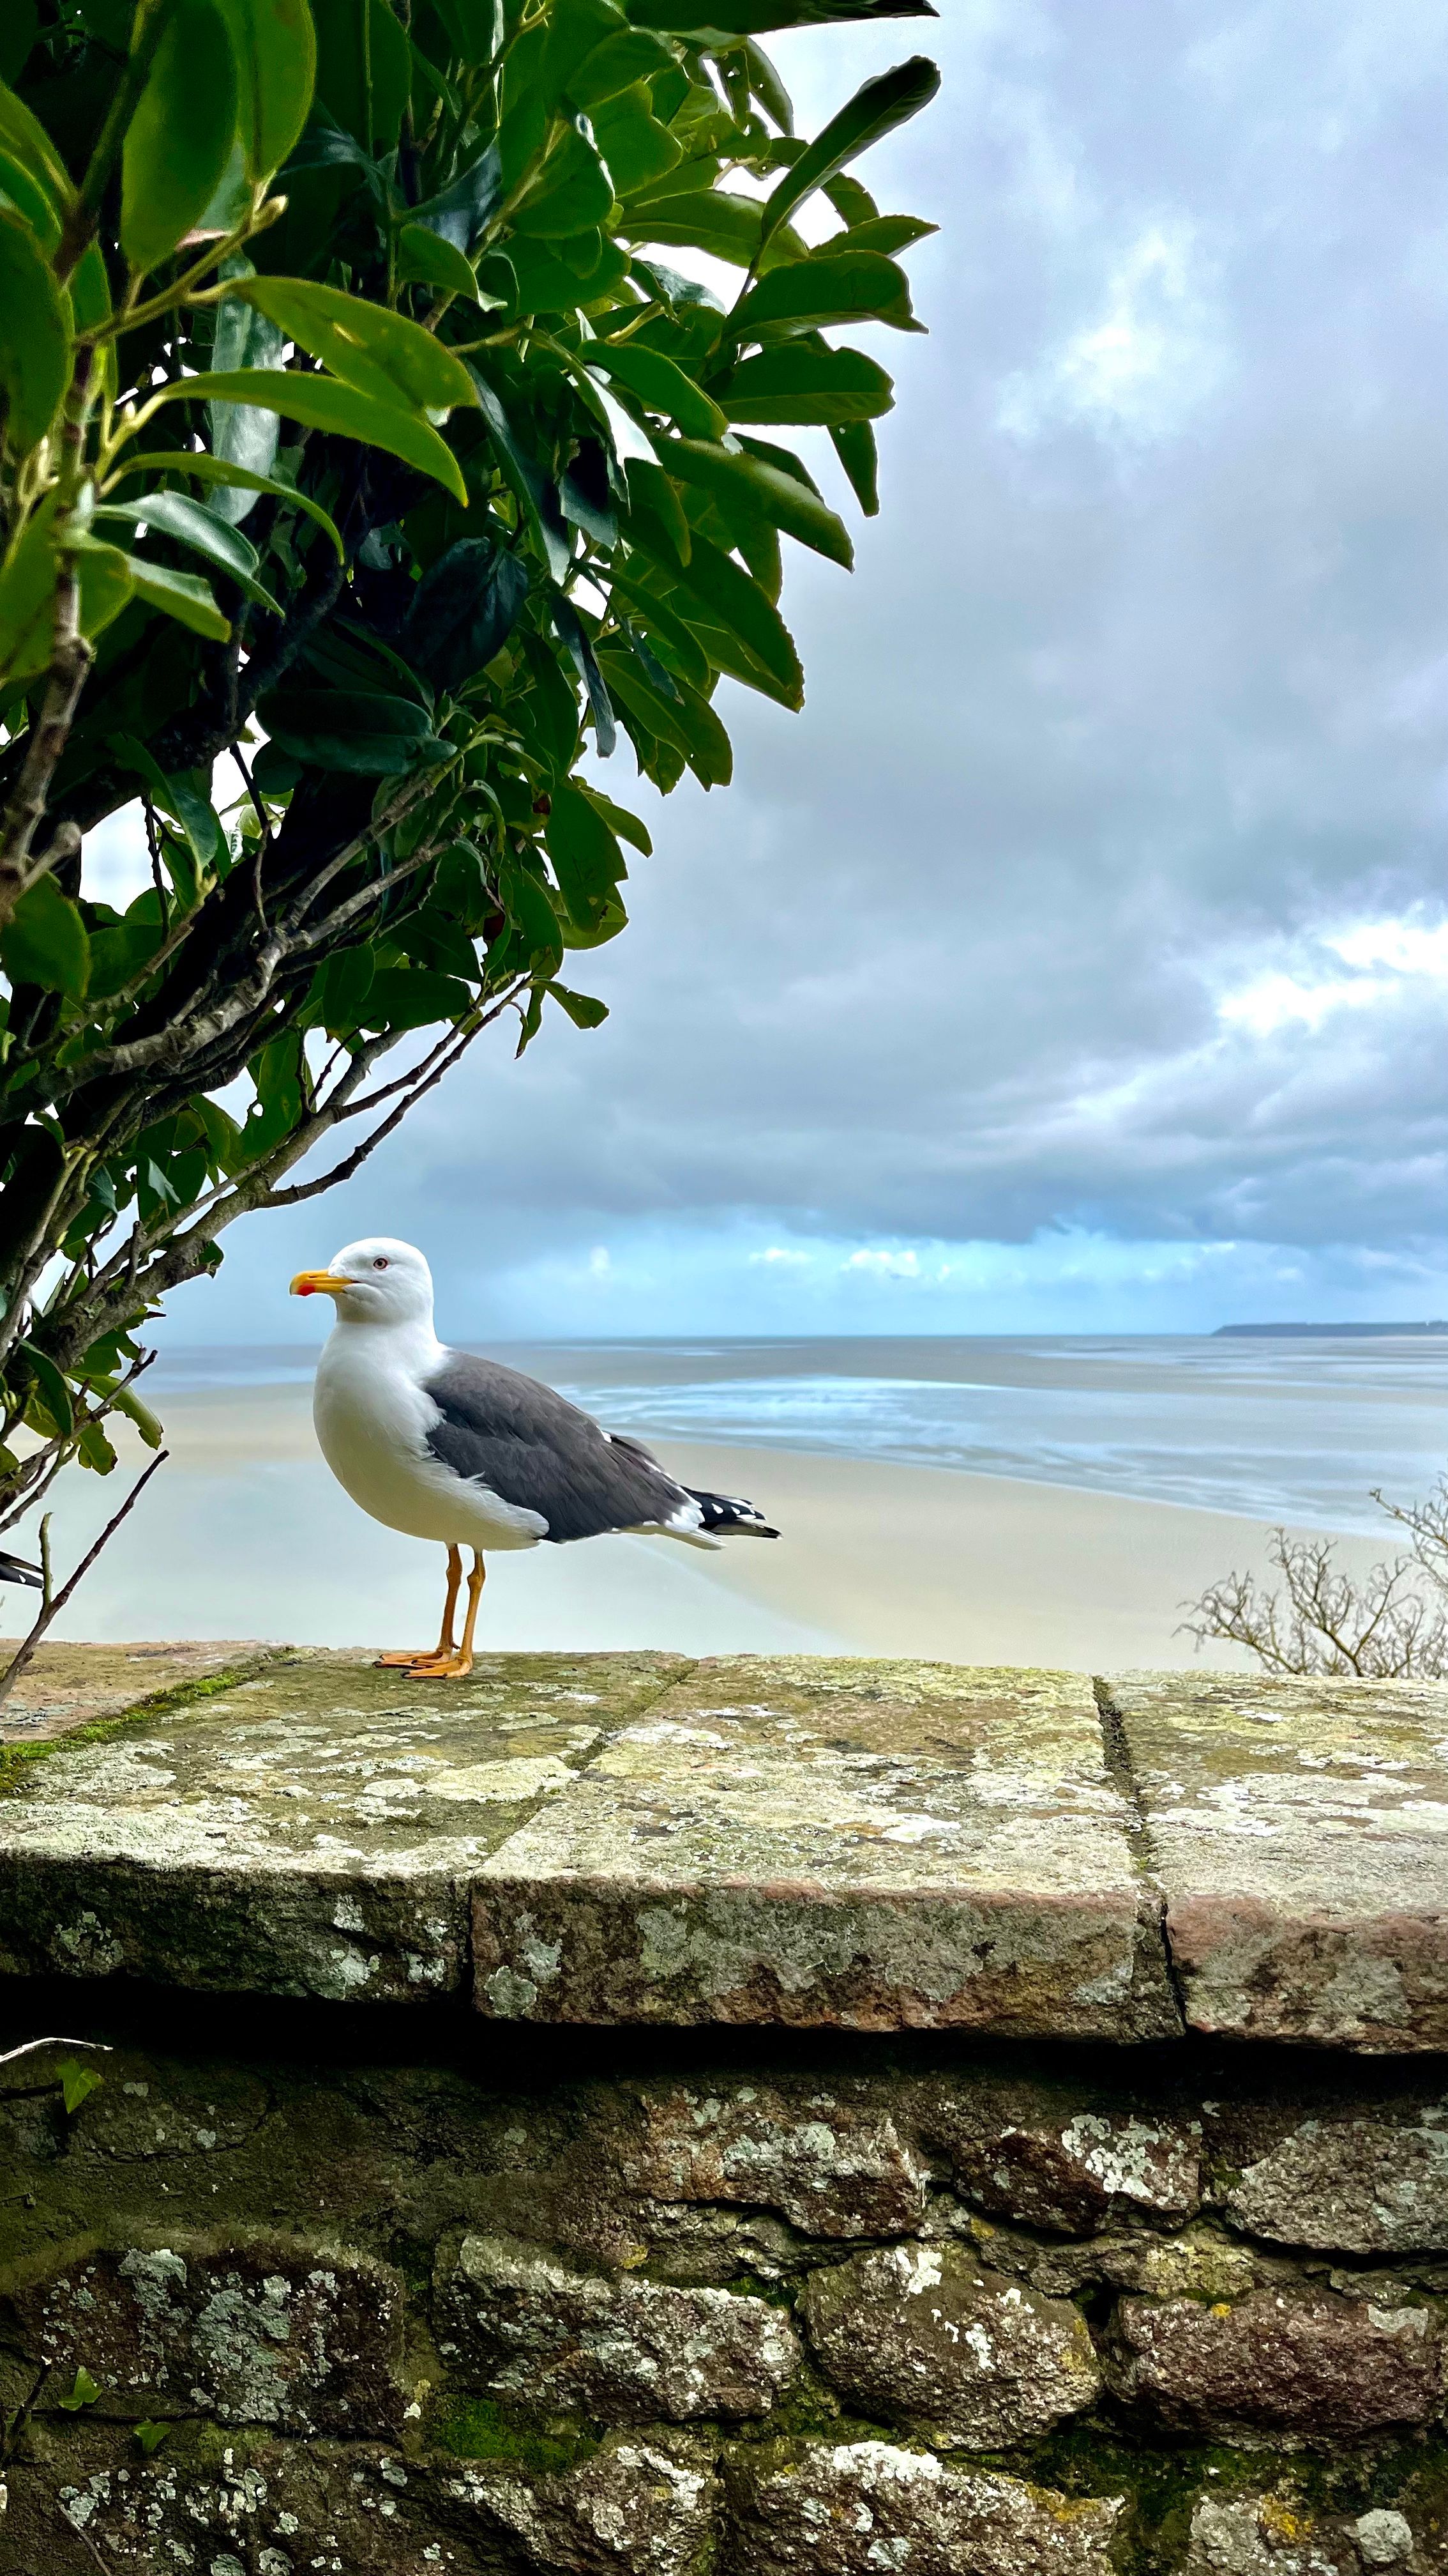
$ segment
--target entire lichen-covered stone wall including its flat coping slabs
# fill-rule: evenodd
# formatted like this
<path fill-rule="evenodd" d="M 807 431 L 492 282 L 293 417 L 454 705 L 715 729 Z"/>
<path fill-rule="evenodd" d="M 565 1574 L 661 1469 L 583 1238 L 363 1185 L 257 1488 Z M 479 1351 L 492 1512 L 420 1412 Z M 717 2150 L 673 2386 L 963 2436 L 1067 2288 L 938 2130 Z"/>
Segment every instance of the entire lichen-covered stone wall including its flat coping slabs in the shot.
<path fill-rule="evenodd" d="M 397 1687 L 13 1721 L 3 2576 L 1448 2576 L 1448 1692 Z"/>

